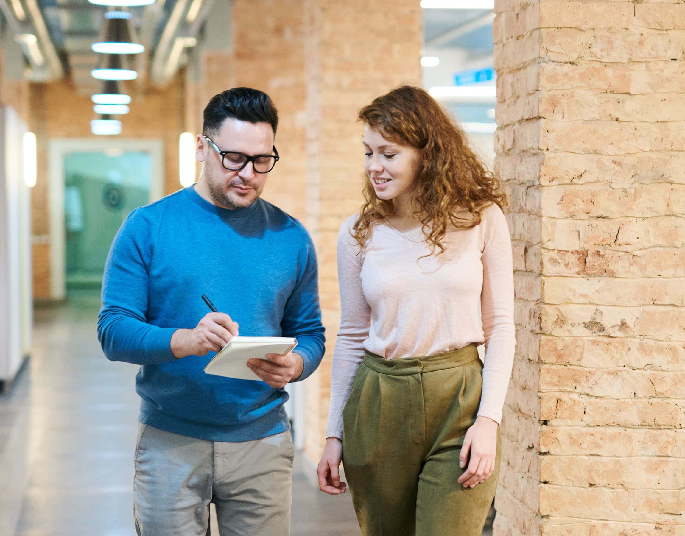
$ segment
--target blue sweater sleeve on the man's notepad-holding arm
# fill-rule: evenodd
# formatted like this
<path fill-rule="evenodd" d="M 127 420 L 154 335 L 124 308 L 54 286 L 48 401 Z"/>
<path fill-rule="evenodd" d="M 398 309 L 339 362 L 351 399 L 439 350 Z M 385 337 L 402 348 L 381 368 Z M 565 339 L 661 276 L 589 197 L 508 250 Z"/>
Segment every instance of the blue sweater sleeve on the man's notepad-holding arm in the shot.
<path fill-rule="evenodd" d="M 304 366 L 296 381 L 306 379 L 316 370 L 323 359 L 324 336 L 319 307 L 319 270 L 316 266 L 314 244 L 302 228 L 306 242 L 301 253 L 299 279 L 286 302 L 281 322 L 285 337 L 295 337 L 297 348 L 293 352 L 302 356 Z"/>

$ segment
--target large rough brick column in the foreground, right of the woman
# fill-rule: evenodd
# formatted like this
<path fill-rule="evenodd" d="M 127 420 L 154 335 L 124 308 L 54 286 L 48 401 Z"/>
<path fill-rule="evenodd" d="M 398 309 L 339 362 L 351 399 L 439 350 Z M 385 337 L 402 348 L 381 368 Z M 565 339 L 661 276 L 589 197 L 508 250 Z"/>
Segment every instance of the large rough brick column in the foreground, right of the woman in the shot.
<path fill-rule="evenodd" d="M 495 2 L 516 360 L 495 535 L 685 533 L 685 4 Z"/>

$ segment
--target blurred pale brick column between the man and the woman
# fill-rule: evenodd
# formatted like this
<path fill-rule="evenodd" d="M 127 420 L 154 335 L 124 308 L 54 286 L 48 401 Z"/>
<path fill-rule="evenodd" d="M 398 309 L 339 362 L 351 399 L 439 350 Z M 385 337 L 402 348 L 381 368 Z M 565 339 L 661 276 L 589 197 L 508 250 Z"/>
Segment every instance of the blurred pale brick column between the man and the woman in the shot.
<path fill-rule="evenodd" d="M 305 0 L 308 101 L 307 225 L 316 237 L 326 356 L 308 380 L 306 450 L 325 441 L 333 348 L 340 322 L 336 244 L 340 224 L 362 203 L 360 107 L 403 83 L 421 84 L 418 0 Z"/>

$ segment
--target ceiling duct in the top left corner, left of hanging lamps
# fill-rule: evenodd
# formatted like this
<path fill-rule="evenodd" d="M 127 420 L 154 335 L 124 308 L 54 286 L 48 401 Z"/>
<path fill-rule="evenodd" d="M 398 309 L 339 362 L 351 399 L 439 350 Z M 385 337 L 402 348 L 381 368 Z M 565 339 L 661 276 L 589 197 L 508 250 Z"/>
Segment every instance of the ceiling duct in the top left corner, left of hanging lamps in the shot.
<path fill-rule="evenodd" d="M 31 81 L 61 78 L 64 67 L 37 1 L 0 0 L 0 10 L 31 66 L 27 78 Z"/>

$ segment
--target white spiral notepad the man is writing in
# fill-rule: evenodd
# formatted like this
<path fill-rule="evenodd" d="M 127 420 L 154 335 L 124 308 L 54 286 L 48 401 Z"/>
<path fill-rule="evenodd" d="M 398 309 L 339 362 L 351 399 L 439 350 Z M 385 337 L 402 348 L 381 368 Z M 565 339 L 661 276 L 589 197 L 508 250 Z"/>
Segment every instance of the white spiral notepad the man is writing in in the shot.
<path fill-rule="evenodd" d="M 262 381 L 248 366 L 249 359 L 264 359 L 266 354 L 288 355 L 297 346 L 294 337 L 233 337 L 204 368 L 207 374 Z"/>

